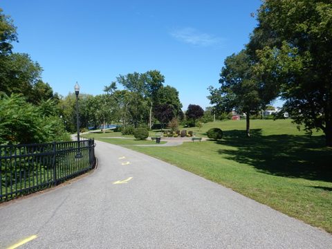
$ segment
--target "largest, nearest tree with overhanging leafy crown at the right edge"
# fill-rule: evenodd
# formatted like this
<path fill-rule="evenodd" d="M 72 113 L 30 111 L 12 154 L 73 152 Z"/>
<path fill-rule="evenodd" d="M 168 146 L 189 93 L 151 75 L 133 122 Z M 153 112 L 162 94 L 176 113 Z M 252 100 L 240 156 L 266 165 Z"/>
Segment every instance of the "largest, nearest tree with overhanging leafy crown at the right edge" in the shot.
<path fill-rule="evenodd" d="M 248 50 L 262 84 L 279 91 L 294 122 L 322 129 L 332 146 L 331 1 L 264 1 L 257 19 Z"/>

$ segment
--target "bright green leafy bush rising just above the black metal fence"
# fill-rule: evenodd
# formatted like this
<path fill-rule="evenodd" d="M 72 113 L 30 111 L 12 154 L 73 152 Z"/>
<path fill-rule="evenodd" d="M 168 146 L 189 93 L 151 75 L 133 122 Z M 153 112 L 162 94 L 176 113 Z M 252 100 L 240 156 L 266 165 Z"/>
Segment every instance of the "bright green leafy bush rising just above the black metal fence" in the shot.
<path fill-rule="evenodd" d="M 50 102 L 35 107 L 20 95 L 0 98 L 0 144 L 69 140 Z M 48 111 L 46 111 L 48 110 Z"/>

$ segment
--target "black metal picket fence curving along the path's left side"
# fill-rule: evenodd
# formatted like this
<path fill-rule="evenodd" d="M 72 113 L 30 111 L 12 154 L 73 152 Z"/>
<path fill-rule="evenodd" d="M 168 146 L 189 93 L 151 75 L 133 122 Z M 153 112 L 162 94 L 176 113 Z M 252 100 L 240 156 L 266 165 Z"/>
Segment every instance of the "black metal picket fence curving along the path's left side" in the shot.
<path fill-rule="evenodd" d="M 73 178 L 95 166 L 95 141 L 0 145 L 0 202 Z"/>

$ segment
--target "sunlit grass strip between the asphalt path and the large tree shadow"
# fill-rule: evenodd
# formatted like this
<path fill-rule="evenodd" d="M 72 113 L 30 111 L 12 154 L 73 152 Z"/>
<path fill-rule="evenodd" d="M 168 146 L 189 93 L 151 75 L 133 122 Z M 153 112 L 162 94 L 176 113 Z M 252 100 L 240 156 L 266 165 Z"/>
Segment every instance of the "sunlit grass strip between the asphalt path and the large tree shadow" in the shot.
<path fill-rule="evenodd" d="M 234 160 L 202 156 L 202 147 L 211 143 L 184 143 L 176 147 L 177 151 L 174 147 L 127 148 L 229 187 L 270 208 L 332 233 L 332 183 L 275 176 Z M 212 151 L 211 147 L 209 149 Z"/>

